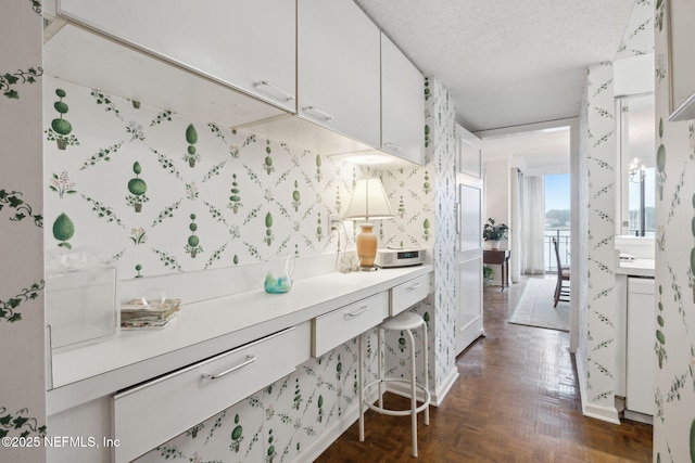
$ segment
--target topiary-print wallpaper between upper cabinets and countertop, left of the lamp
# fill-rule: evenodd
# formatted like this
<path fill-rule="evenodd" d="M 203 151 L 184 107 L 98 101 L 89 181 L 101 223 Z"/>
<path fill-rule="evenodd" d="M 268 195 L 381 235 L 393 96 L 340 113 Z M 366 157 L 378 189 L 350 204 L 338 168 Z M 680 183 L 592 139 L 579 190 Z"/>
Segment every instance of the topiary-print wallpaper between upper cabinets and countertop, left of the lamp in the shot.
<path fill-rule="evenodd" d="M 49 255 L 86 249 L 129 279 L 334 249 L 326 220 L 363 168 L 53 77 L 45 88 Z"/>

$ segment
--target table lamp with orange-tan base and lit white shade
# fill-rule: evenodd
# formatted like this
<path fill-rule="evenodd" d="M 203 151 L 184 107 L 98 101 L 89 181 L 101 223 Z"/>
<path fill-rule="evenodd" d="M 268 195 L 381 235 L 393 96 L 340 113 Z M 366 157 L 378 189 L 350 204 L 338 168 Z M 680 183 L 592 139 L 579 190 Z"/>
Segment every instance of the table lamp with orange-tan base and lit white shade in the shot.
<path fill-rule="evenodd" d="M 343 219 L 365 220 L 359 227 L 357 235 L 357 256 L 362 270 L 374 270 L 374 259 L 377 256 L 377 235 L 374 233 L 371 219 L 388 219 L 393 217 L 391 205 L 379 178 L 357 180 L 355 191 Z"/>

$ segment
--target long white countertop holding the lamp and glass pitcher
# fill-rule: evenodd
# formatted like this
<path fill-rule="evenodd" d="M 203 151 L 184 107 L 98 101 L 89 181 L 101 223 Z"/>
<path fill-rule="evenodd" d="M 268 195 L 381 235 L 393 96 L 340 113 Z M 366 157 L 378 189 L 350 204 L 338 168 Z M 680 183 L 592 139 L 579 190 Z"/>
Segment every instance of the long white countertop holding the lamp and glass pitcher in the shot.
<path fill-rule="evenodd" d="M 54 351 L 49 414 L 177 370 L 433 271 L 431 265 L 306 278 L 286 294 L 263 290 L 181 304 L 163 330 L 124 331 Z"/>

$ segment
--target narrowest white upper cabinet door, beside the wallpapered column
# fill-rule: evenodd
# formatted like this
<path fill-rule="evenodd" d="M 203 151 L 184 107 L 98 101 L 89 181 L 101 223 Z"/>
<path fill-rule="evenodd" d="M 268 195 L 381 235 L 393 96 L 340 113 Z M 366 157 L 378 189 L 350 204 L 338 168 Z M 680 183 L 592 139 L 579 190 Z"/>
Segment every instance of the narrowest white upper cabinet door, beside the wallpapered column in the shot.
<path fill-rule="evenodd" d="M 381 34 L 381 150 L 425 163 L 425 79 Z"/>

